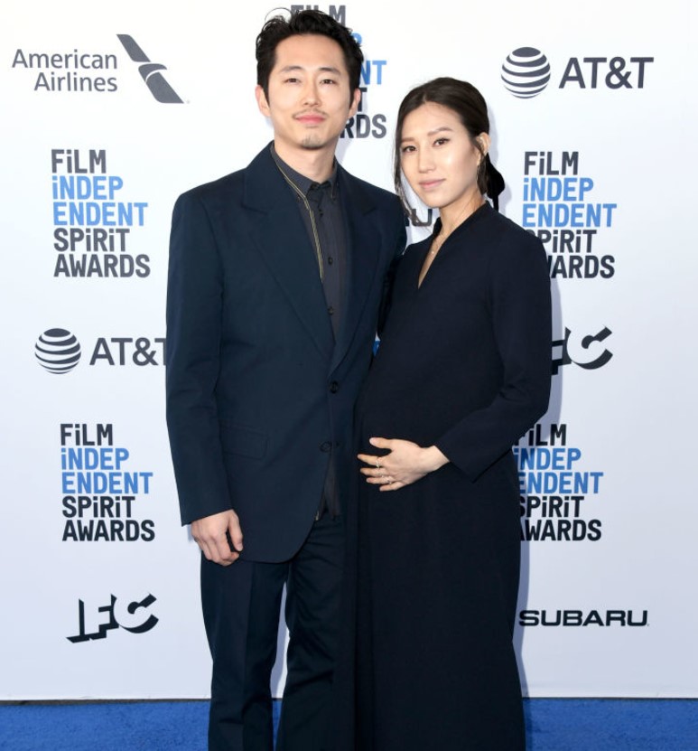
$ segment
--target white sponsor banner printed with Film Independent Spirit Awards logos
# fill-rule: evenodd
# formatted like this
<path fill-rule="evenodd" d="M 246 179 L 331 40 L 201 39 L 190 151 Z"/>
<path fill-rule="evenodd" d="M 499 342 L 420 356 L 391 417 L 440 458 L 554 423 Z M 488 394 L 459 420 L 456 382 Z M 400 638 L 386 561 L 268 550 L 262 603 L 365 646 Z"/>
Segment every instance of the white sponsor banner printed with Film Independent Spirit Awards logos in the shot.
<path fill-rule="evenodd" d="M 390 188 L 406 91 L 470 80 L 501 210 L 548 254 L 553 397 L 517 446 L 526 694 L 698 696 L 693 4 L 317 7 L 366 56 L 349 171 Z M 6 8 L 0 699 L 208 696 L 164 424 L 167 243 L 177 195 L 272 136 L 273 9 Z M 413 239 L 434 219 L 417 209 Z"/>

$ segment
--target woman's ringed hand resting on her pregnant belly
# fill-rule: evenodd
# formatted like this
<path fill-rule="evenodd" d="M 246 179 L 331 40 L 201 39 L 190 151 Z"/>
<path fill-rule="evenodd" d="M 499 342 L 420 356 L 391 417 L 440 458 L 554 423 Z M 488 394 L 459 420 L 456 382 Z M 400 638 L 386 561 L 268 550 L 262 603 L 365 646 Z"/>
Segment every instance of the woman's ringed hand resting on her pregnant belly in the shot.
<path fill-rule="evenodd" d="M 380 485 L 381 491 L 399 490 L 405 485 L 416 483 L 425 474 L 434 472 L 449 462 L 436 446 L 423 448 L 412 441 L 399 438 L 371 438 L 368 443 L 390 452 L 385 456 L 358 455 L 368 465 L 360 470 L 361 474 L 366 475 L 366 482 Z"/>

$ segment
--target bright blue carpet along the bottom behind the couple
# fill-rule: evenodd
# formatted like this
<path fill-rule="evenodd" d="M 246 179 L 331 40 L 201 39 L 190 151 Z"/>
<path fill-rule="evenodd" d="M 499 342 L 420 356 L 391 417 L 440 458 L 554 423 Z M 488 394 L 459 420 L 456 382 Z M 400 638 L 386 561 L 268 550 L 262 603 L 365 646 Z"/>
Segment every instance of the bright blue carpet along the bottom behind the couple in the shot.
<path fill-rule="evenodd" d="M 525 707 L 528 751 L 698 751 L 698 699 L 526 699 Z M 4 704 L 0 748 L 206 751 L 207 711 L 203 701 Z"/>

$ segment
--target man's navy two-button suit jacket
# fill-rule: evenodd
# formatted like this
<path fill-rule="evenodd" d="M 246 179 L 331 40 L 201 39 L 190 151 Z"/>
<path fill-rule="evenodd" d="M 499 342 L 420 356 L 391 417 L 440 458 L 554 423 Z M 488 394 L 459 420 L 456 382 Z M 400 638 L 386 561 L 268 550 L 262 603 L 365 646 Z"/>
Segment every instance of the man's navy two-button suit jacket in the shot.
<path fill-rule="evenodd" d="M 338 169 L 348 241 L 336 343 L 299 204 L 268 147 L 174 207 L 167 422 L 181 521 L 234 509 L 250 560 L 300 548 L 330 451 L 344 508 L 357 472 L 352 411 L 405 216 L 394 195 Z"/>

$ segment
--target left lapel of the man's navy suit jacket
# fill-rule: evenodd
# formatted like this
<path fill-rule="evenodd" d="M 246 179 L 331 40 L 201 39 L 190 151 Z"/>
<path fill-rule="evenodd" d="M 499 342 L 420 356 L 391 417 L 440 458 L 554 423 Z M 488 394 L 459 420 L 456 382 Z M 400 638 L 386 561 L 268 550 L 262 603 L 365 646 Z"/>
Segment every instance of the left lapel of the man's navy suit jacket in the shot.
<path fill-rule="evenodd" d="M 245 205 L 258 212 L 252 239 L 295 314 L 327 358 L 333 334 L 320 272 L 296 199 L 268 147 L 245 175 Z"/>

